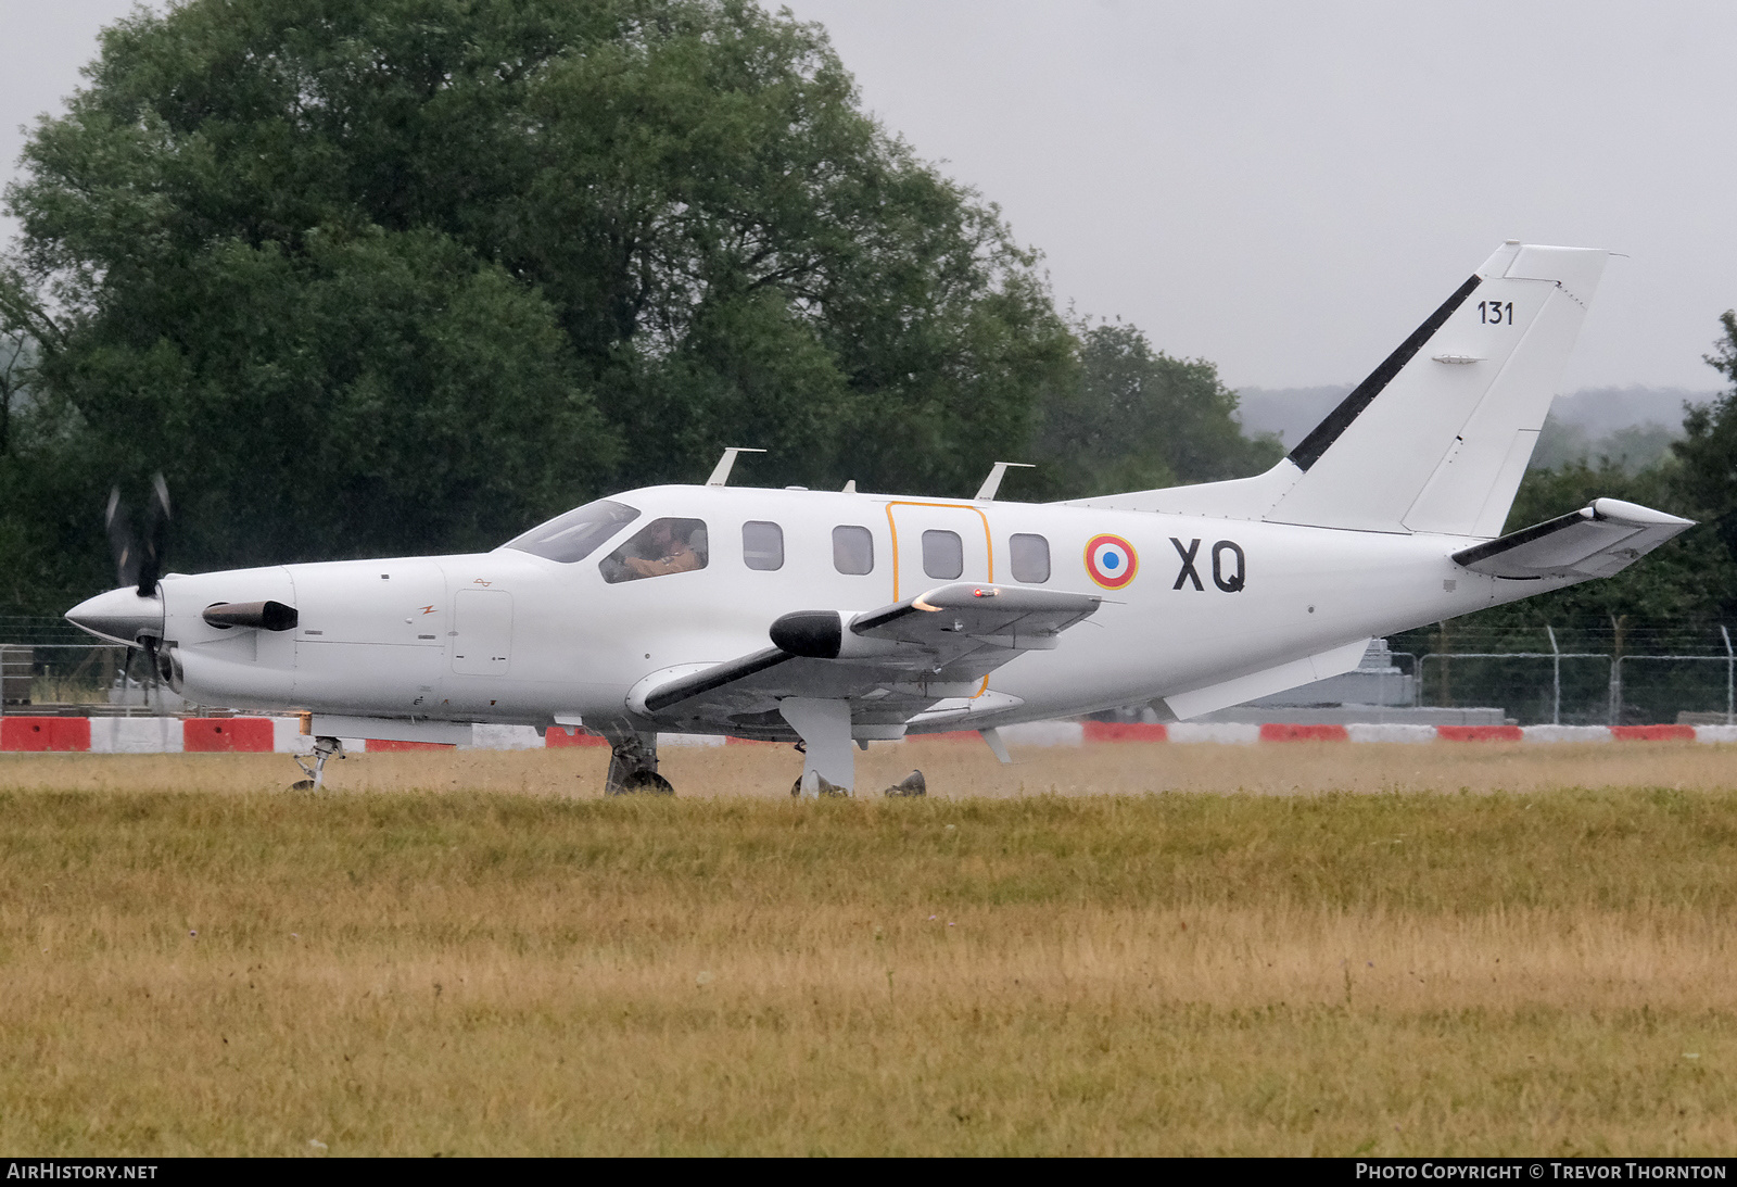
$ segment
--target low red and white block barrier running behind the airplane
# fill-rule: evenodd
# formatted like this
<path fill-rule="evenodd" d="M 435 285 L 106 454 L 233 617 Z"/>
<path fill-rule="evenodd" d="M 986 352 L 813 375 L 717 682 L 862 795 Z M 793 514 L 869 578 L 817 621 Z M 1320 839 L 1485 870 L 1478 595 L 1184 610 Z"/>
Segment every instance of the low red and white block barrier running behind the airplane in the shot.
<path fill-rule="evenodd" d="M 1238 725 L 1228 721 L 1034 721 L 1001 730 L 1011 746 L 1098 746 L 1112 742 L 1725 742 L 1737 744 L 1734 725 Z M 974 730 L 914 735 L 919 740 L 978 742 Z M 742 739 L 707 733 L 662 733 L 664 746 L 724 746 Z M 344 739 L 347 749 L 446 751 L 438 742 Z M 528 725 L 476 725 L 476 751 L 544 747 L 606 747 L 594 733 Z M 301 718 L 0 718 L 0 751 L 90 754 L 306 754 L 313 739 Z"/>

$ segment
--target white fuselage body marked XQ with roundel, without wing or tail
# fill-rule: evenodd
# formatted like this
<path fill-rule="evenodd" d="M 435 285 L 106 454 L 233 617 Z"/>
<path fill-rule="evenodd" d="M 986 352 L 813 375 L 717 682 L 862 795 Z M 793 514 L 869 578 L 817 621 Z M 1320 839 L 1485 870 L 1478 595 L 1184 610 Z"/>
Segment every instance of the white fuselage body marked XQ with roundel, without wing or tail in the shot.
<path fill-rule="evenodd" d="M 1060 647 L 954 690 L 971 706 L 928 726 L 976 728 L 1169 697 L 1556 584 L 1468 572 L 1450 560 L 1468 540 L 1430 534 L 745 487 L 611 502 L 637 514 L 578 561 L 504 546 L 167 577 L 175 683 L 195 702 L 248 709 L 650 730 L 629 707 L 636 686 L 764 648 L 787 612 L 863 612 L 947 580 L 1101 594 Z M 664 518 L 703 523 L 703 567 L 608 580 L 611 549 Z M 841 563 L 837 528 L 868 554 Z M 201 617 L 262 600 L 295 607 L 295 627 Z"/>

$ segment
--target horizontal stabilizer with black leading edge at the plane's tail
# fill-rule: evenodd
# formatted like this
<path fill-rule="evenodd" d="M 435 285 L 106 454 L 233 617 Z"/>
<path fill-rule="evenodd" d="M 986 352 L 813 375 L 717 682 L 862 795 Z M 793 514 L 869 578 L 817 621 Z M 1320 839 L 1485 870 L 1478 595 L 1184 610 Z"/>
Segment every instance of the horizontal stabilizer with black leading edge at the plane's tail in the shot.
<path fill-rule="evenodd" d="M 1454 561 L 1509 580 L 1610 577 L 1694 525 L 1621 499 L 1593 499 L 1589 507 L 1461 549 Z"/>

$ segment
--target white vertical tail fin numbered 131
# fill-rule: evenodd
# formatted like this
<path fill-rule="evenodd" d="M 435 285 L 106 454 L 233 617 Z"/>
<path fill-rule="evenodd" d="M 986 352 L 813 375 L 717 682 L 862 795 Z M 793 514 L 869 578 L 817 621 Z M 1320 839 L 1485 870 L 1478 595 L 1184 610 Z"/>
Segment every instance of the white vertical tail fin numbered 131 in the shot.
<path fill-rule="evenodd" d="M 1080 502 L 1499 535 L 1607 257 L 1504 243 L 1268 473 Z"/>

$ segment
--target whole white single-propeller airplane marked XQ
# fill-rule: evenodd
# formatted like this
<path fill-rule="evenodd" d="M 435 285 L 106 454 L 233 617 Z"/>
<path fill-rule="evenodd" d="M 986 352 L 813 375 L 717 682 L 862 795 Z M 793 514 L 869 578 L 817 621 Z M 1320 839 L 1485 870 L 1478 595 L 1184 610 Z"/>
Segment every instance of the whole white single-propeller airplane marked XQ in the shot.
<path fill-rule="evenodd" d="M 997 462 L 973 499 L 756 490 L 724 485 L 730 448 L 703 487 L 599 499 L 492 553 L 148 563 L 66 617 L 146 647 L 195 702 L 311 714 L 313 786 L 340 737 L 474 721 L 603 733 L 611 792 L 669 791 L 658 732 L 799 742 L 809 796 L 853 789 L 853 742 L 980 730 L 1007 761 L 997 726 L 1211 713 L 1692 527 L 1596 499 L 1499 535 L 1605 259 L 1504 243 L 1254 478 L 1020 504 Z"/>

